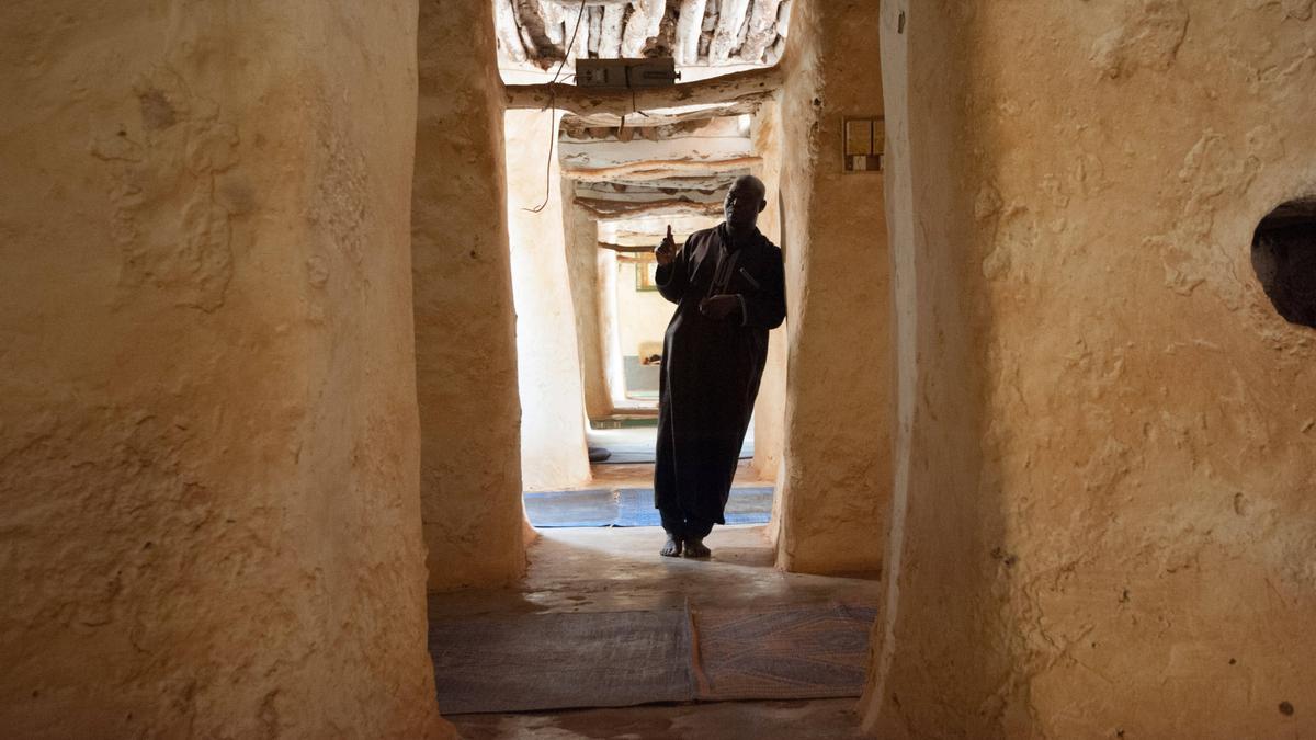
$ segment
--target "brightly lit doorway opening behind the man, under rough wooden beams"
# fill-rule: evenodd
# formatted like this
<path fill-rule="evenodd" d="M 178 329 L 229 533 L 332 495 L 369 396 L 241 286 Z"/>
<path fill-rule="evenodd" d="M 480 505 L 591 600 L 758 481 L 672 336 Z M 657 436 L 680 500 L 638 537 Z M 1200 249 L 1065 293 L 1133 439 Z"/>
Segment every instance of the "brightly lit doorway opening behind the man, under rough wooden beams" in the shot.
<path fill-rule="evenodd" d="M 650 21 L 646 43 L 632 51 L 672 55 L 682 84 L 762 70 L 778 61 L 784 45 L 778 18 L 788 18 L 780 3 L 744 3 L 737 53 L 721 54 L 711 41 L 721 22 L 716 3 L 699 4 L 700 22 L 691 28 L 680 25 L 676 4 L 529 5 L 551 9 L 537 20 L 516 4 L 500 18 L 499 65 L 512 86 L 570 84 L 575 59 L 625 57 L 628 34 Z M 541 21 L 546 30 L 538 41 L 511 33 Z M 550 96 L 546 111 L 508 111 L 521 470 L 532 525 L 658 524 L 651 504 L 642 516 L 617 516 L 636 510 L 622 499 L 653 496 L 663 334 L 675 309 L 654 284 L 653 249 L 667 228 L 682 244 L 716 226 L 737 176 L 759 175 L 775 190 L 765 170 L 775 171 L 778 142 L 762 122 L 776 115 L 772 92 L 684 104 L 676 96 L 661 101 L 662 88 L 651 88 L 620 108 L 582 107 L 562 93 Z M 779 241 L 778 226 L 774 199 L 759 228 Z M 772 359 L 784 367 L 784 353 Z M 766 375 L 765 384 L 782 388 L 761 392 L 741 445 L 737 487 L 753 489 L 757 514 L 742 514 L 757 524 L 770 517 L 780 461 L 783 367 Z M 765 449 L 761 429 L 770 440 Z M 595 502 L 597 515 L 547 511 L 579 510 L 582 500 Z"/>

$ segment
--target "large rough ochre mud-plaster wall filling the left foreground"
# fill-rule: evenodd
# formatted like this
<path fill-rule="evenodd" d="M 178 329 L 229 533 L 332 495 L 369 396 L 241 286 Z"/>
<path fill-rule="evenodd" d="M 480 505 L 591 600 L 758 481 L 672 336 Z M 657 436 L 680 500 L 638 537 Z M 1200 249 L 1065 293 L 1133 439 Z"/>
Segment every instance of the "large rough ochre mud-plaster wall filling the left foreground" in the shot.
<path fill-rule="evenodd" d="M 7 733 L 441 732 L 415 34 L 411 1 L 7 4 Z"/>

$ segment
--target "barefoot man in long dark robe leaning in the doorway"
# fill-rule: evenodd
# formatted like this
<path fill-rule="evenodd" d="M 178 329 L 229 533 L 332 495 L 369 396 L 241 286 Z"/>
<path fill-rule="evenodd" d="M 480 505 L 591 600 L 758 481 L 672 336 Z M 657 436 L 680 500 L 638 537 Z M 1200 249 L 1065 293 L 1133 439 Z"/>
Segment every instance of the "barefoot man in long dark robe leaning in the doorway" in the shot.
<path fill-rule="evenodd" d="M 786 317 L 782 250 L 754 226 L 767 207 L 763 183 L 742 176 L 722 207 L 725 223 L 696 232 L 678 251 L 654 250 L 657 283 L 676 312 L 663 338 L 654 506 L 662 554 L 708 557 L 704 537 L 722 512 L 767 361 L 767 332 Z"/>

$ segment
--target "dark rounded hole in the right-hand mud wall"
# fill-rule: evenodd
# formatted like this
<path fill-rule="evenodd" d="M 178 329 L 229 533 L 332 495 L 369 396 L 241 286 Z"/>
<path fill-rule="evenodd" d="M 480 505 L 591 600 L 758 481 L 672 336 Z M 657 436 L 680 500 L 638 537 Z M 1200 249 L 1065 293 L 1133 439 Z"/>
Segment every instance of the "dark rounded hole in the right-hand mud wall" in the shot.
<path fill-rule="evenodd" d="M 1316 195 L 1282 203 L 1257 224 L 1252 267 L 1284 320 L 1316 328 Z"/>

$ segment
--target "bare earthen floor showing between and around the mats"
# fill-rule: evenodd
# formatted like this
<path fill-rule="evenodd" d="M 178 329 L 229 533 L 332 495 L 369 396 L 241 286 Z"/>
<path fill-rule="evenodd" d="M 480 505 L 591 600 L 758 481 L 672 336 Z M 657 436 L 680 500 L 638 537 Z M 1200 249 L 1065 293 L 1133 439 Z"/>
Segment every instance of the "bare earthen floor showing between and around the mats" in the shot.
<path fill-rule="evenodd" d="M 600 466 L 595 486 L 630 485 L 647 466 Z M 651 470 L 651 469 L 650 469 Z M 742 470 L 747 485 L 753 475 Z M 511 589 L 430 596 L 434 616 L 680 607 L 876 602 L 875 574 L 780 573 L 763 527 L 719 527 L 709 561 L 658 557 L 658 528 L 545 529 L 529 548 L 529 571 Z M 855 699 L 724 702 L 534 714 L 457 715 L 468 740 L 547 739 L 844 739 L 857 737 Z"/>

